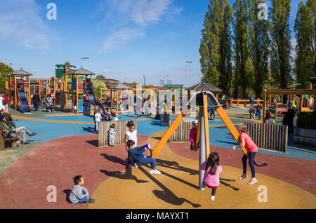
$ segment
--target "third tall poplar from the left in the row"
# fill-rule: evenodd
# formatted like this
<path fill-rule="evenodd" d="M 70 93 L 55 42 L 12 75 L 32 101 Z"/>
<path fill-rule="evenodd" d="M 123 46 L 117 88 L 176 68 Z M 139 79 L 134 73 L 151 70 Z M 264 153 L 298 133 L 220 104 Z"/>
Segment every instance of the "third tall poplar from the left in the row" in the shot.
<path fill-rule="evenodd" d="M 258 4 L 265 3 L 264 0 L 251 0 L 249 13 L 251 15 L 251 63 L 254 67 L 252 76 L 252 88 L 256 97 L 261 97 L 263 88 L 268 80 L 269 74 L 269 33 L 268 20 L 258 19 Z"/>

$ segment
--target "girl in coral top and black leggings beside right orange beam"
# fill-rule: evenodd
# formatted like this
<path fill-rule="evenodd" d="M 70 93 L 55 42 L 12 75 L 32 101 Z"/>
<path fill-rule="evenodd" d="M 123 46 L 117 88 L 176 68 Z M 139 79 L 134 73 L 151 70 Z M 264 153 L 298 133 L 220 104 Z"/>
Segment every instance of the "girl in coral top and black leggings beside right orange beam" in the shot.
<path fill-rule="evenodd" d="M 254 143 L 254 141 L 251 140 L 251 137 L 248 135 L 247 126 L 244 123 L 240 123 L 237 126 L 237 130 L 240 133 L 239 142 L 241 143 L 238 146 L 232 147 L 232 150 L 235 150 L 237 147 L 244 147 L 244 146 L 246 146 L 249 149 L 249 165 L 251 169 L 251 181 L 249 181 L 248 184 L 251 185 L 258 182 L 258 180 L 256 180 L 256 170 L 254 168 L 254 158 L 256 156 L 256 153 L 258 152 L 258 147 Z M 247 158 L 248 157 L 246 156 L 246 154 L 244 154 L 244 156 L 242 157 L 243 173 L 242 173 L 242 176 L 239 177 L 238 180 L 242 180 L 248 177 L 248 175 L 246 175 Z"/>

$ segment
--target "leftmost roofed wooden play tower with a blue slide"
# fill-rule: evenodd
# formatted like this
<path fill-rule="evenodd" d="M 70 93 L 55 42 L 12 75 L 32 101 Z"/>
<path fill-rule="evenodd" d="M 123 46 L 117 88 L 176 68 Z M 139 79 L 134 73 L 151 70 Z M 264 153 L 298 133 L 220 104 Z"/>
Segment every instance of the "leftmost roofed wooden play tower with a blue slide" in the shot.
<path fill-rule="evenodd" d="M 30 113 L 31 95 L 30 81 L 32 76 L 22 68 L 16 72 L 8 74 L 9 80 L 6 81 L 6 95 L 8 95 L 9 107 L 20 109 L 23 113 Z"/>

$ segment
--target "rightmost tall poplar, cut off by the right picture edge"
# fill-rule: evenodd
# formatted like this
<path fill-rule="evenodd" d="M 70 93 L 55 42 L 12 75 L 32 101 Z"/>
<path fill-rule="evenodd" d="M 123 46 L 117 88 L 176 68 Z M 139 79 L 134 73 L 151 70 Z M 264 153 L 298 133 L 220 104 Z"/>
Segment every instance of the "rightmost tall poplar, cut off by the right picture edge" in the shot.
<path fill-rule="evenodd" d="M 294 25 L 297 42 L 294 72 L 296 81 L 303 86 L 305 81 L 316 74 L 315 6 L 315 0 L 309 0 L 306 5 L 301 1 Z"/>

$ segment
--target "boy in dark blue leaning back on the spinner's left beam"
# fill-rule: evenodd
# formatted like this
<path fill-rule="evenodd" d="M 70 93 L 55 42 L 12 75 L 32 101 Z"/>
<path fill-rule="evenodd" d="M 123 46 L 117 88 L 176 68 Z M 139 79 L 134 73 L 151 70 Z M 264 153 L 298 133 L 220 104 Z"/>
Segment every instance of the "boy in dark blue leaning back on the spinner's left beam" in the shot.
<path fill-rule="evenodd" d="M 128 149 L 129 156 L 133 157 L 135 161 L 137 161 L 138 163 L 145 163 L 145 164 L 150 163 L 151 165 L 150 174 L 160 174 L 160 171 L 157 170 L 156 168 L 156 159 L 143 155 L 144 151 L 146 151 L 147 149 L 150 149 L 149 144 L 145 144 L 142 147 L 135 148 L 135 142 L 133 140 L 129 140 L 127 141 L 127 147 L 129 147 Z"/>

